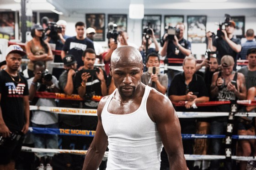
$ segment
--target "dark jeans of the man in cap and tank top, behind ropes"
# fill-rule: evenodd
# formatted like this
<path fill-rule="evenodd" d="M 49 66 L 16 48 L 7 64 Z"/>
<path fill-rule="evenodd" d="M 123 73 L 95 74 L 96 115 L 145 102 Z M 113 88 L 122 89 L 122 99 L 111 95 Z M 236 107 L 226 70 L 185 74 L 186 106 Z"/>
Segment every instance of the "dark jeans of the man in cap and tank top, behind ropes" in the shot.
<path fill-rule="evenodd" d="M 212 134 L 226 134 L 227 122 L 226 121 L 212 121 L 211 122 L 211 133 Z M 223 139 L 212 139 L 212 155 L 221 155 Z M 220 160 L 211 160 L 210 170 L 219 170 Z M 232 170 L 231 161 L 224 160 L 224 169 Z"/>

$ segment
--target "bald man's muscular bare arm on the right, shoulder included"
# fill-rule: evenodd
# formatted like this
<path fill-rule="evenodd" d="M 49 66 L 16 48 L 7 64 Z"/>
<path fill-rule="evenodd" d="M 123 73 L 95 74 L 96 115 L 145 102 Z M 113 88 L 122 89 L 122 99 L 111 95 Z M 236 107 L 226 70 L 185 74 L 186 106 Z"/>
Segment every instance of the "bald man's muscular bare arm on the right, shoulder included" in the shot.
<path fill-rule="evenodd" d="M 157 125 L 168 155 L 170 170 L 187 170 L 181 140 L 181 126 L 171 101 L 159 93 L 149 96 L 148 101 L 147 110 L 150 110 L 149 116 L 152 115 Z"/>

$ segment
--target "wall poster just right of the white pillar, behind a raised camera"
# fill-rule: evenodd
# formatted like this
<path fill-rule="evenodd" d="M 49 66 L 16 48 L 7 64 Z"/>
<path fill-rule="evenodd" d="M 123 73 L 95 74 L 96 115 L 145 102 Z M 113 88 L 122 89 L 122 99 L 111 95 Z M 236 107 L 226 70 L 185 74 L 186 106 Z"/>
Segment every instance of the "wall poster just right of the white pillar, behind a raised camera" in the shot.
<path fill-rule="evenodd" d="M 142 33 L 145 28 L 152 28 L 155 33 L 155 39 L 160 42 L 161 37 L 161 15 L 144 15 L 142 20 Z"/>

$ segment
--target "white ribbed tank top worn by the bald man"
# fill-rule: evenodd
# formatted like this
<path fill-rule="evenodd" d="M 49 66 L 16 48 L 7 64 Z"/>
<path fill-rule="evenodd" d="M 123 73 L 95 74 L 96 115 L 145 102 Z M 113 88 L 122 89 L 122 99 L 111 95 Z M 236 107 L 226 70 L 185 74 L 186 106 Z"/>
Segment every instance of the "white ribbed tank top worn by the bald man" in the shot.
<path fill-rule="evenodd" d="M 107 111 L 116 90 L 101 113 L 102 125 L 108 137 L 107 170 L 159 170 L 163 144 L 146 108 L 151 88 L 145 87 L 139 108 L 129 114 Z"/>

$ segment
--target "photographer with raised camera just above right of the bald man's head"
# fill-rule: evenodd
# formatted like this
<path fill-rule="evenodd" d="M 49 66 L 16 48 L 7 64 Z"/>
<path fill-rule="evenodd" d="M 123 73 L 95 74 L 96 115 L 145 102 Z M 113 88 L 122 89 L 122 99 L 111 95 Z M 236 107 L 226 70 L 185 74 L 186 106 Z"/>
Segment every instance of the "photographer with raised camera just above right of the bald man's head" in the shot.
<path fill-rule="evenodd" d="M 154 41 L 155 48 L 150 48 L 150 45 L 152 44 L 152 40 Z M 147 43 L 147 41 L 148 41 L 148 43 Z M 148 48 L 148 49 L 146 49 L 146 48 Z M 139 47 L 139 52 L 142 56 L 144 64 L 146 64 L 147 55 L 149 53 L 152 53 L 152 52 L 158 53 L 159 52 L 158 42 L 155 39 L 155 33 L 152 28 L 147 28 L 147 30 L 144 31 L 144 36 L 142 37 L 142 43 L 141 43 L 141 46 Z M 144 71 L 146 71 L 145 67 L 144 67 Z"/>

